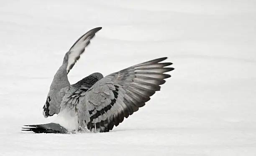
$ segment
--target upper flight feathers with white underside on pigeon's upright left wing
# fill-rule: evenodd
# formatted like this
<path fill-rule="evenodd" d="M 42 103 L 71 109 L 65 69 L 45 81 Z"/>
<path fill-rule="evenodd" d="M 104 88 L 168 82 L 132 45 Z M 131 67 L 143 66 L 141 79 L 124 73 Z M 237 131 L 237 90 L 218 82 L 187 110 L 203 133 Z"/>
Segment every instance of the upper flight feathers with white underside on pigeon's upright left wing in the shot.
<path fill-rule="evenodd" d="M 72 45 L 70 50 L 66 53 L 63 61 L 63 63 L 68 62 L 67 74 L 72 69 L 77 60 L 80 58 L 80 55 L 84 52 L 85 47 L 90 44 L 90 40 L 95 36 L 95 33 L 101 29 L 102 27 L 96 27 L 86 32 L 74 43 L 74 45 Z"/>

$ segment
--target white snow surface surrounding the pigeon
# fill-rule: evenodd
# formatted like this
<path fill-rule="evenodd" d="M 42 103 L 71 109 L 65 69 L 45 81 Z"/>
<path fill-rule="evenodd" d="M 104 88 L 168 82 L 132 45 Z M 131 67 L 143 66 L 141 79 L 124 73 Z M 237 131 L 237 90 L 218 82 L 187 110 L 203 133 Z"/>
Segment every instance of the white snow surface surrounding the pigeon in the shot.
<path fill-rule="evenodd" d="M 70 82 L 169 57 L 172 77 L 109 133 L 33 134 L 65 52 Z M 255 0 L 1 0 L 0 156 L 255 156 Z"/>

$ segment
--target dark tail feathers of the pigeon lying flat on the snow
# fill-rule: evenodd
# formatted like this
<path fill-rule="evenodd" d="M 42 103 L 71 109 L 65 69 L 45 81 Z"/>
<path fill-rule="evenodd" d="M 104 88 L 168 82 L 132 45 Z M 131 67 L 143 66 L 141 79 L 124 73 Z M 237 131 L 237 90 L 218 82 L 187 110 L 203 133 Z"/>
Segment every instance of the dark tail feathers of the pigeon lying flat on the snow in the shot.
<path fill-rule="evenodd" d="M 35 133 L 61 133 L 67 134 L 69 131 L 63 126 L 55 123 L 39 124 L 39 125 L 24 125 L 21 131 L 33 131 Z"/>

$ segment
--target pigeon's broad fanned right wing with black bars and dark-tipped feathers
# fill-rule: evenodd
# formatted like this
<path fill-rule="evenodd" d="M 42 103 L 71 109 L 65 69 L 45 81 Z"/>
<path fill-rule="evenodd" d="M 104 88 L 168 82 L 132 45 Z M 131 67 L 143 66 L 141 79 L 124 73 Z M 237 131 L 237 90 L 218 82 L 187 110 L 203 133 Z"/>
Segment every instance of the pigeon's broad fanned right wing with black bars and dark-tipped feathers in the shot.
<path fill-rule="evenodd" d="M 92 132 L 107 132 L 138 111 L 170 77 L 163 73 L 174 69 L 166 67 L 172 63 L 159 63 L 166 58 L 137 64 L 96 82 L 79 97 L 79 125 Z"/>

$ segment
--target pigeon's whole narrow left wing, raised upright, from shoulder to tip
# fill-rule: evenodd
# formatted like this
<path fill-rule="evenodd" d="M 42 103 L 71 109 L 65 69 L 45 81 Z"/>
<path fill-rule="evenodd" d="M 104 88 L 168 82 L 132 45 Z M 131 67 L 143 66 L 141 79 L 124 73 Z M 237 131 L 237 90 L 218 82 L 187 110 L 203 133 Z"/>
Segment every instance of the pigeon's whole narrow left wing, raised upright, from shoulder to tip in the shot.
<path fill-rule="evenodd" d="M 84 48 L 89 45 L 90 40 L 95 36 L 95 33 L 99 31 L 101 27 L 94 28 L 84 35 L 82 35 L 70 48 L 69 52 L 65 54 L 63 64 L 59 67 L 58 71 L 54 75 L 54 79 L 51 83 L 50 90 L 44 104 L 44 117 L 59 114 L 60 102 L 63 95 L 63 88 L 69 87 L 69 80 L 67 73 L 72 69 L 74 64 L 80 58 L 80 55 L 84 52 Z"/>

